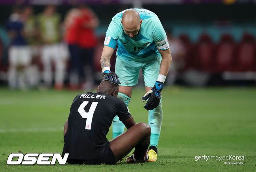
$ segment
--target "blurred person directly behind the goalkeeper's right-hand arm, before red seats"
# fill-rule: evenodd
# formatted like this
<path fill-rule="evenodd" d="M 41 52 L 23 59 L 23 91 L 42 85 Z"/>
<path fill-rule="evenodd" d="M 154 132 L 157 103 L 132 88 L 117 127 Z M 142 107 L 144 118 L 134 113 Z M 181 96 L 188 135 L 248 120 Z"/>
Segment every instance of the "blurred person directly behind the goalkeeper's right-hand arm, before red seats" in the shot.
<path fill-rule="evenodd" d="M 167 75 L 166 85 L 173 85 L 176 80 L 177 73 L 184 68 L 184 56 L 185 48 L 180 39 L 174 38 L 171 31 L 167 33 L 167 39 L 169 41 L 172 62 L 169 68 L 169 73 Z"/>

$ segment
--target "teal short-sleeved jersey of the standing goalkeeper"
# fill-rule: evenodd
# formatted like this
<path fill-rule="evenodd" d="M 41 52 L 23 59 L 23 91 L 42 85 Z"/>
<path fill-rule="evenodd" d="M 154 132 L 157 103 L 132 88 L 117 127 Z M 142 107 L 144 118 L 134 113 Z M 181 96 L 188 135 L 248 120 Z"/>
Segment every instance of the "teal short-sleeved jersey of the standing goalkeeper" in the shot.
<path fill-rule="evenodd" d="M 125 60 L 145 61 L 160 57 L 158 49 L 169 49 L 166 33 L 158 16 L 147 9 L 135 9 L 142 20 L 135 38 L 130 38 L 122 27 L 124 11 L 117 13 L 109 24 L 104 45 L 117 48 L 117 56 Z"/>

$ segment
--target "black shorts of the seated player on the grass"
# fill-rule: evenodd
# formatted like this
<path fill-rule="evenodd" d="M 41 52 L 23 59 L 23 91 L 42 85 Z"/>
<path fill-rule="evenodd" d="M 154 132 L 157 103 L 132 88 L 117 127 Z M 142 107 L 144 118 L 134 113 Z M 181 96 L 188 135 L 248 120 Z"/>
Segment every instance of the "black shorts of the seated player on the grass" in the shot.
<path fill-rule="evenodd" d="M 82 159 L 68 159 L 67 162 L 69 164 L 88 164 L 88 165 L 100 165 L 100 164 L 115 164 L 115 156 L 110 147 L 108 147 L 108 153 L 106 156 L 100 159 L 93 159 L 93 160 L 82 160 Z"/>

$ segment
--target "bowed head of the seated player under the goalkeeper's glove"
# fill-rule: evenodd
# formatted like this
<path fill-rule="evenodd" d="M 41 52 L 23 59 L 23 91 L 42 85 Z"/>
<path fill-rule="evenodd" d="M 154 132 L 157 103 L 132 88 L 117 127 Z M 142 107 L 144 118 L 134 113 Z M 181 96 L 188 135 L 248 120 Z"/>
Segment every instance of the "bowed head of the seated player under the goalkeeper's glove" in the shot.
<path fill-rule="evenodd" d="M 118 91 L 119 91 L 118 85 L 115 85 L 114 83 L 111 83 L 106 80 L 102 80 L 97 89 L 97 92 L 104 93 L 107 95 L 112 95 L 115 97 L 117 97 Z"/>

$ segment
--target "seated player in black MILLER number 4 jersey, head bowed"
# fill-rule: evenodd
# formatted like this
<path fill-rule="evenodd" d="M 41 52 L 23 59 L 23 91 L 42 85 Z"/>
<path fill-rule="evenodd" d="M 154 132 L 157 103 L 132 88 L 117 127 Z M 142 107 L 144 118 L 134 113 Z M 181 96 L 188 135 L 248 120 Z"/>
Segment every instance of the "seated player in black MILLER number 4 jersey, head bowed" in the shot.
<path fill-rule="evenodd" d="M 97 93 L 87 92 L 74 98 L 64 125 L 62 155 L 69 153 L 69 164 L 115 164 L 134 147 L 134 155 L 126 158 L 127 163 L 148 160 L 150 127 L 135 124 L 124 101 L 117 98 L 118 91 L 118 85 L 103 80 Z M 108 141 L 106 135 L 116 115 L 128 130 Z"/>

